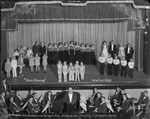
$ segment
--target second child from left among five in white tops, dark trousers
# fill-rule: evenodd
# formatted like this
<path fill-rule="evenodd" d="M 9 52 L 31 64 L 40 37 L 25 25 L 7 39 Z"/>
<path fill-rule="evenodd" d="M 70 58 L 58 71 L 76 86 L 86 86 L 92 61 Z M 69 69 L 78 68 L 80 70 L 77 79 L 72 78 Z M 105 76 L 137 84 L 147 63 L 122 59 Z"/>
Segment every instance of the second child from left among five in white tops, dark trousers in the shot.
<path fill-rule="evenodd" d="M 112 75 L 112 63 L 113 63 L 113 58 L 111 57 L 111 54 L 109 54 L 107 58 L 107 74 L 108 75 Z"/>

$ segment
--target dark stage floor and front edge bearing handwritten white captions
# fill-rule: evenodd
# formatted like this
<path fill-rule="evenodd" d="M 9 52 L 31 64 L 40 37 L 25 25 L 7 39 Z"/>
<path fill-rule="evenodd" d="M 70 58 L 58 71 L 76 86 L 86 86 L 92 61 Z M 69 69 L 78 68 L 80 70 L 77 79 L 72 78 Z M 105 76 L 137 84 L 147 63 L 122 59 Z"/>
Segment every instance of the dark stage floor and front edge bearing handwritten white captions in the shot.
<path fill-rule="evenodd" d="M 23 76 L 8 79 L 8 85 L 12 90 L 27 90 L 33 87 L 37 90 L 63 90 L 72 86 L 74 89 L 91 89 L 97 87 L 99 89 L 111 89 L 116 86 L 130 88 L 150 88 L 150 76 L 142 71 L 134 71 L 134 78 L 100 75 L 99 69 L 95 65 L 85 66 L 85 80 L 80 82 L 61 82 L 58 83 L 56 65 L 49 65 L 47 73 L 41 70 L 39 73 L 30 73 L 29 67 L 23 68 Z"/>

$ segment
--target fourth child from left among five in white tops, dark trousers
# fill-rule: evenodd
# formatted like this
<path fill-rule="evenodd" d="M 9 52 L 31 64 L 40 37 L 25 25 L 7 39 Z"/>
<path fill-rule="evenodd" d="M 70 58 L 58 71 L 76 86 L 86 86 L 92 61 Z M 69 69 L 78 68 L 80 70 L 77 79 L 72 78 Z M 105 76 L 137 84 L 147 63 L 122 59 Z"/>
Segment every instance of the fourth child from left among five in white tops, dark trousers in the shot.
<path fill-rule="evenodd" d="M 125 57 L 122 57 L 121 59 L 121 77 L 126 77 L 127 75 L 127 61 L 125 60 Z"/>

